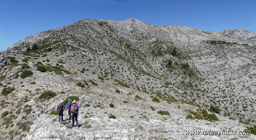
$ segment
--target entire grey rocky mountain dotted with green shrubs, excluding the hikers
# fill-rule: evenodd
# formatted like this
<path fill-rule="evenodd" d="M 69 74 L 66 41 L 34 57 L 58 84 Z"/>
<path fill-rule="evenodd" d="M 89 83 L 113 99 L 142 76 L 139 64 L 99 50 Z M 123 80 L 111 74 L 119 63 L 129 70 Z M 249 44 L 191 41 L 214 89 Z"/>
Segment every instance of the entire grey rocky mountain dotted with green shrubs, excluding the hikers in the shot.
<path fill-rule="evenodd" d="M 186 135 L 255 129 L 255 48 L 246 29 L 136 19 L 86 19 L 31 35 L 0 54 L 2 138 L 255 138 Z M 67 98 L 79 99 L 79 128 L 56 121 Z"/>

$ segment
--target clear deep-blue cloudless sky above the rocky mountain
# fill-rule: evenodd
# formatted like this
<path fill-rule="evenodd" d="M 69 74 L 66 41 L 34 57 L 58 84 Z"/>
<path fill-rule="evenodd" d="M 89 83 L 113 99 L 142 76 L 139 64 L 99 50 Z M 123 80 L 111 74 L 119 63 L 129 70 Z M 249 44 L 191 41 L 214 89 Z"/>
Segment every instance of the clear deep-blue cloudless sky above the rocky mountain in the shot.
<path fill-rule="evenodd" d="M 153 25 L 205 31 L 248 29 L 256 33 L 255 0 L 3 0 L 0 51 L 44 30 L 92 18 L 134 18 Z"/>

